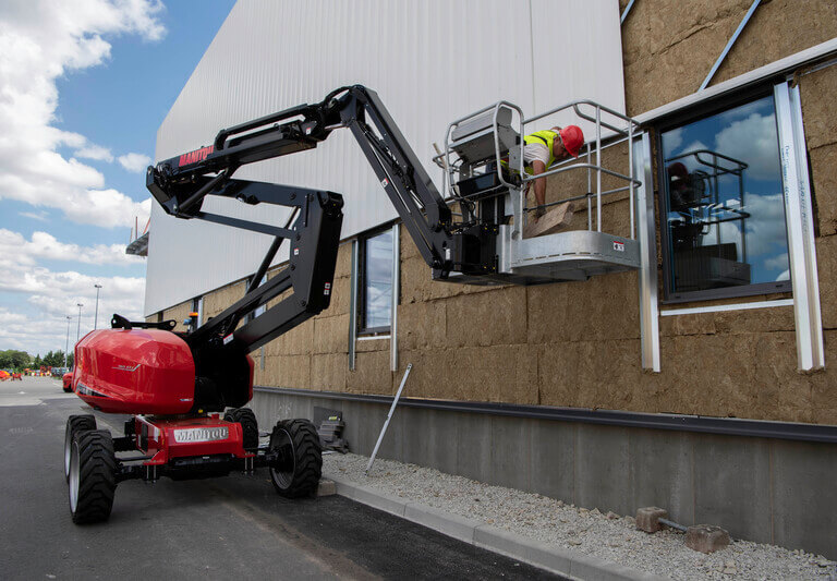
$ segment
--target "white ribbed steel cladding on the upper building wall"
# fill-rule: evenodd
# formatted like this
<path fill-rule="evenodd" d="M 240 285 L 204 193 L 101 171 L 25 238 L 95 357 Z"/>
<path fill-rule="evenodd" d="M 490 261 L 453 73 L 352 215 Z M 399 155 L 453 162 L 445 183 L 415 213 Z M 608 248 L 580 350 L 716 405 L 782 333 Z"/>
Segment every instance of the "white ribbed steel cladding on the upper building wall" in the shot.
<path fill-rule="evenodd" d="M 433 143 L 482 107 L 505 99 L 534 116 L 587 98 L 624 111 L 618 1 L 241 0 L 160 125 L 157 160 L 352 84 L 378 93 L 440 187 Z M 235 175 L 342 194 L 342 238 L 397 217 L 348 130 Z M 277 225 L 288 215 L 210 198 L 204 209 Z M 150 231 L 146 315 L 252 274 L 271 242 L 171 218 L 157 204 Z"/>

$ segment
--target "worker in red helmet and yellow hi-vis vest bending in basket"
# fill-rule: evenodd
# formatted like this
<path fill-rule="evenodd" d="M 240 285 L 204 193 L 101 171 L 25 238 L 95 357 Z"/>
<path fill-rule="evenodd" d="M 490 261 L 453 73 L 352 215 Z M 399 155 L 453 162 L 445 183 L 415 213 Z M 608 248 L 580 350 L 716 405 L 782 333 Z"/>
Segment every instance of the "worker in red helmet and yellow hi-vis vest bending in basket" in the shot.
<path fill-rule="evenodd" d="M 526 173 L 538 175 L 546 168 L 567 159 L 579 157 L 579 149 L 584 145 L 584 133 L 578 125 L 566 128 L 551 128 L 545 131 L 536 131 L 523 137 L 523 166 Z M 531 183 L 531 182 L 530 182 Z M 529 194 L 529 183 L 526 183 Z M 535 178 L 535 221 L 546 214 L 546 178 Z"/>

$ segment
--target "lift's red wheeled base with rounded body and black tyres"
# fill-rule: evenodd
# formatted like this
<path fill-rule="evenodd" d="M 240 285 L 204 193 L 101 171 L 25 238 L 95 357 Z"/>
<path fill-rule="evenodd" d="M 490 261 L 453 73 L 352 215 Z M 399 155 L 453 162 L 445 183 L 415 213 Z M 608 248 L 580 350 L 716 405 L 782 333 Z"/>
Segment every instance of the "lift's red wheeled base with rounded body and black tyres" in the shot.
<path fill-rule="evenodd" d="M 234 396 L 250 400 L 253 360 L 242 353 L 219 361 L 230 370 L 225 377 L 235 387 Z M 73 522 L 107 520 L 117 484 L 132 479 L 203 479 L 265 467 L 282 496 L 316 491 L 322 458 L 314 425 L 280 421 L 269 444 L 259 444 L 254 413 L 247 408 L 219 411 L 211 399 L 216 391 L 198 391 L 205 384 L 195 370 L 190 346 L 171 330 L 129 325 L 92 331 L 76 343 L 75 366 L 68 374 L 71 389 L 95 410 L 133 416 L 122 436 L 97 429 L 90 414 L 68 419 L 64 473 Z"/>

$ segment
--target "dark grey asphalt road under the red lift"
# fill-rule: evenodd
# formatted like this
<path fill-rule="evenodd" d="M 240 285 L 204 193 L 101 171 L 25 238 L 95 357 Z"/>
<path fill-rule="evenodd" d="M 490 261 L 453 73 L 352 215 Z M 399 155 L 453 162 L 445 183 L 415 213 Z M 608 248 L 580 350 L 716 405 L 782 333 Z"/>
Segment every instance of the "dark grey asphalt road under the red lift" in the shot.
<path fill-rule="evenodd" d="M 556 579 L 340 496 L 286 500 L 266 471 L 123 482 L 107 523 L 74 525 L 63 437 L 83 407 L 57 379 L 0 383 L 2 579 Z"/>

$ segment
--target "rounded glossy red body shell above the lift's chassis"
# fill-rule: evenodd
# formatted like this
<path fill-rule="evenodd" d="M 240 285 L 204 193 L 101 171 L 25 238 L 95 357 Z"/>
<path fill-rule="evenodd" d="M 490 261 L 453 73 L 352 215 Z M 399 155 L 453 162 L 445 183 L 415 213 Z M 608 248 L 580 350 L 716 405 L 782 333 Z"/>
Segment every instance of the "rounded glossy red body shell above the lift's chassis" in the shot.
<path fill-rule="evenodd" d="M 73 390 L 108 413 L 187 413 L 195 362 L 186 342 L 171 331 L 99 329 L 75 346 Z"/>

